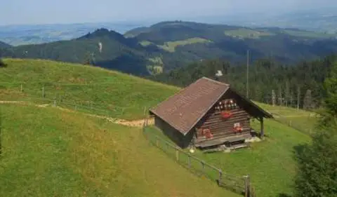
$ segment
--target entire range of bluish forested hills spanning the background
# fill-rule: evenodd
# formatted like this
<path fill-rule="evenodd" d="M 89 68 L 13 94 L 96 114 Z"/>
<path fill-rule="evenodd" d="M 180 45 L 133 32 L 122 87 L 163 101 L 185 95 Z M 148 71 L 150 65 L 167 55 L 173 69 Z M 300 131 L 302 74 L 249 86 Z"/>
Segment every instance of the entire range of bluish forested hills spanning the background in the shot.
<path fill-rule="evenodd" d="M 337 40 L 334 34 L 298 29 L 172 21 L 132 29 L 124 35 L 97 29 L 70 41 L 0 49 L 0 56 L 85 62 L 150 75 L 205 59 L 220 58 L 232 64 L 246 62 L 247 50 L 251 60 L 272 57 L 280 64 L 295 63 L 337 53 Z"/>

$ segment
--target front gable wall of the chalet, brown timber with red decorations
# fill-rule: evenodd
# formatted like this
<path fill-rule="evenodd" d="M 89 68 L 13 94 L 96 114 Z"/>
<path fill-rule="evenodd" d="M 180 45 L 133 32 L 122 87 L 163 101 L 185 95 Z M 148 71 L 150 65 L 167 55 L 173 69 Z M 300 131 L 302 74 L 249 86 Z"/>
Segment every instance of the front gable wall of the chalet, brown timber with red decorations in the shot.
<path fill-rule="evenodd" d="M 232 104 L 230 101 L 232 101 Z M 230 117 L 223 118 L 221 114 L 223 111 L 230 112 Z M 211 146 L 249 138 L 252 134 L 251 118 L 260 120 L 263 117 L 254 117 L 254 114 L 249 114 L 244 109 L 242 100 L 237 100 L 233 93 L 227 93 L 195 125 L 192 144 L 197 147 L 207 147 L 208 144 Z M 235 125 L 241 126 L 242 130 L 236 130 Z M 204 135 L 205 129 L 209 129 L 211 137 Z"/>

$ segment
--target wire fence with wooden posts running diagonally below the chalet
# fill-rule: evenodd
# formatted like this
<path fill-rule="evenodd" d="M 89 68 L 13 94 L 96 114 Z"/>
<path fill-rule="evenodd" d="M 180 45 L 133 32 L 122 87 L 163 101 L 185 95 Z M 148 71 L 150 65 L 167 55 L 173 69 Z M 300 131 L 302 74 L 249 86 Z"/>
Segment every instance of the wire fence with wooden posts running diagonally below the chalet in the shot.
<path fill-rule="evenodd" d="M 151 129 L 151 126 L 147 124 L 146 120 L 143 125 L 143 135 L 151 144 L 161 149 L 161 151 L 164 151 L 164 153 L 184 168 L 190 170 L 194 175 L 210 179 L 211 181 L 216 182 L 218 186 L 242 194 L 246 197 L 256 196 L 249 175 L 230 175 L 220 168 L 216 168 L 206 161 L 203 161 L 196 156 L 192 156 L 192 154 L 183 151 L 183 149 L 180 149 L 180 147 L 177 147 L 175 144 L 156 135 Z"/>

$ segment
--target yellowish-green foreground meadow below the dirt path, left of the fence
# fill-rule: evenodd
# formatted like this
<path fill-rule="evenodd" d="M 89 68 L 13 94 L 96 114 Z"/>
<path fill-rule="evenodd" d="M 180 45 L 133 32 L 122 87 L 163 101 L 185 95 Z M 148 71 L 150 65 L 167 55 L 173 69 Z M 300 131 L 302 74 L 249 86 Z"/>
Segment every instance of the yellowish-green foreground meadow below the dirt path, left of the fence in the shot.
<path fill-rule="evenodd" d="M 138 128 L 52 107 L 0 107 L 0 196 L 237 196 L 176 165 Z"/>

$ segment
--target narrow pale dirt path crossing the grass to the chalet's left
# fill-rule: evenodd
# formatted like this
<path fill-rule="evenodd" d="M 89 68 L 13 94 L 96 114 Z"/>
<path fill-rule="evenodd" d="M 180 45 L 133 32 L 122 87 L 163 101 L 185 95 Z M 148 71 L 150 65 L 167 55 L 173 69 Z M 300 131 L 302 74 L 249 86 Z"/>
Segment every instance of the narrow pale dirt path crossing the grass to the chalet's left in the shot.
<path fill-rule="evenodd" d="M 0 104 L 22 104 L 22 105 L 34 105 L 36 107 L 49 107 L 51 106 L 51 104 L 33 104 L 31 102 L 25 102 L 25 101 L 6 101 L 6 100 L 1 100 Z M 67 108 L 63 108 L 63 107 L 57 107 L 58 109 L 62 110 L 62 111 L 68 111 L 68 112 L 75 112 L 75 110 L 72 109 L 67 109 Z M 105 119 L 107 121 L 110 121 L 112 123 L 117 123 L 120 125 L 127 125 L 127 126 L 131 126 L 131 127 L 143 127 L 143 123 L 144 123 L 144 119 L 140 119 L 140 120 L 135 120 L 135 121 L 126 121 L 123 119 L 119 119 L 119 118 L 112 118 L 109 116 L 99 116 L 99 115 L 95 115 L 95 114 L 86 114 L 84 113 L 86 116 L 91 116 L 91 117 L 95 117 L 95 118 L 102 118 Z M 154 119 L 153 118 L 149 118 L 147 120 L 148 125 L 152 125 L 154 124 Z"/>

